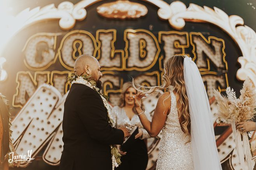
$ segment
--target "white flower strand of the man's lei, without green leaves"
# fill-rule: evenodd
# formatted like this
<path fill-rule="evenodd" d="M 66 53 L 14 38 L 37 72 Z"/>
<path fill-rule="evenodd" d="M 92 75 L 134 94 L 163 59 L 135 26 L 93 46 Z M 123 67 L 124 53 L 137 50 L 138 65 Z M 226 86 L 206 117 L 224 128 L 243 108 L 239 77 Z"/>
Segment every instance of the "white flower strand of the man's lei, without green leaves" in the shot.
<path fill-rule="evenodd" d="M 114 119 L 112 117 L 112 114 L 111 114 L 111 108 L 110 108 L 110 105 L 109 105 L 109 102 L 107 101 L 107 99 L 105 99 L 105 97 L 103 97 L 103 95 L 100 93 L 100 89 L 94 85 L 92 85 L 88 80 L 84 80 L 84 78 L 82 78 L 82 76 L 79 76 L 76 80 L 73 80 L 71 82 L 71 84 L 74 84 L 74 83 L 78 83 L 78 84 L 83 84 L 83 85 L 86 85 L 90 88 L 92 88 L 93 90 L 95 90 L 98 94 L 100 94 L 100 97 L 102 98 L 102 101 L 104 103 L 104 106 L 105 108 L 107 109 L 107 115 L 109 117 L 109 120 L 110 120 L 110 125 L 112 127 L 116 127 L 116 123 L 114 122 Z M 110 145 L 110 149 L 111 149 L 111 155 L 112 155 L 112 170 L 114 170 L 115 167 L 118 167 L 119 164 L 117 163 L 116 161 L 116 157 L 115 155 L 113 154 L 113 149 L 114 147 L 112 145 Z"/>

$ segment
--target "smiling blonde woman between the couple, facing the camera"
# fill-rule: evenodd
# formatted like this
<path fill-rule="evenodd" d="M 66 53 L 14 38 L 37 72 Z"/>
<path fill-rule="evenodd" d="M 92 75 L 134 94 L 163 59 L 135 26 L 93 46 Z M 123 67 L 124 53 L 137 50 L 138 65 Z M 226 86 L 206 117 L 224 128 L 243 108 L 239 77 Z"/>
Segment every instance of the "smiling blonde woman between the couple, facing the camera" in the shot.
<path fill-rule="evenodd" d="M 127 151 L 122 151 L 120 146 L 119 153 L 121 156 L 121 165 L 116 170 L 146 170 L 148 154 L 147 146 L 144 139 L 149 138 L 149 134 L 142 127 L 139 117 L 134 108 L 133 96 L 137 91 L 133 88 L 132 83 L 124 83 L 120 94 L 119 105 L 115 106 L 111 113 L 116 121 L 117 128 L 120 126 L 132 130 L 134 126 L 139 127 L 139 133 L 135 136 L 136 142 Z M 149 113 L 145 113 L 151 120 Z"/>

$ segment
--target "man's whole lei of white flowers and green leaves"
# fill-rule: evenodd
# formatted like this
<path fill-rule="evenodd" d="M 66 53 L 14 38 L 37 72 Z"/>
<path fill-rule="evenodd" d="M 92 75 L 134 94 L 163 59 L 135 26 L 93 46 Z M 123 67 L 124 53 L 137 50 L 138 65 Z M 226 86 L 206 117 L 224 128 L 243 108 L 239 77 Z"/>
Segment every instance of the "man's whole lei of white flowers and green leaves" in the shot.
<path fill-rule="evenodd" d="M 115 121 L 112 118 L 108 97 L 100 93 L 100 89 L 96 87 L 96 82 L 94 80 L 91 80 L 91 75 L 78 76 L 73 73 L 70 77 L 67 78 L 67 80 L 68 82 L 71 82 L 71 84 L 74 84 L 74 83 L 83 84 L 92 88 L 96 92 L 98 92 L 98 94 L 100 94 L 100 97 L 102 98 L 105 108 L 107 109 L 109 124 L 112 127 L 116 127 Z M 114 170 L 115 167 L 118 167 L 121 164 L 121 161 L 120 161 L 121 154 L 118 152 L 118 149 L 115 145 L 110 145 L 110 148 L 111 148 L 111 155 L 112 155 L 112 170 Z"/>

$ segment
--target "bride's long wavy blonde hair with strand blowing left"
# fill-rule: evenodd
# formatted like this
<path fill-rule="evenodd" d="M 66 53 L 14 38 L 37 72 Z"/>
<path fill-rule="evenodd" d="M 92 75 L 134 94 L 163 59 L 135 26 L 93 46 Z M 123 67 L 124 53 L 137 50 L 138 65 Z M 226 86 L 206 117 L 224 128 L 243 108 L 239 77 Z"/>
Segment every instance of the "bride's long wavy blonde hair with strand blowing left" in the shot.
<path fill-rule="evenodd" d="M 163 75 L 161 86 L 144 87 L 141 85 L 135 85 L 133 82 L 133 87 L 139 92 L 152 94 L 160 89 L 168 90 L 171 85 L 174 86 L 174 90 L 179 96 L 179 100 L 177 102 L 177 110 L 179 120 L 181 120 L 181 128 L 186 135 L 190 136 L 191 121 L 189 114 L 188 96 L 184 81 L 183 62 L 184 56 L 172 56 L 165 62 L 165 74 Z M 188 142 L 190 142 L 190 139 Z"/>

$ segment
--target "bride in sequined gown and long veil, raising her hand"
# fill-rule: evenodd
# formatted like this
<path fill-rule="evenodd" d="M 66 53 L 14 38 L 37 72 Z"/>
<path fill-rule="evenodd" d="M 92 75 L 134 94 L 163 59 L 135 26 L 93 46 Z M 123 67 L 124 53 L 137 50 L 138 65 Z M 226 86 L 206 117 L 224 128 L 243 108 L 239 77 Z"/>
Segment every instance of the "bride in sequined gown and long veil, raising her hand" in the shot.
<path fill-rule="evenodd" d="M 172 56 L 165 63 L 163 85 L 133 86 L 135 109 L 151 137 L 162 130 L 156 170 L 221 170 L 207 93 L 190 57 Z M 162 94 L 152 121 L 141 109 L 141 99 L 158 89 Z"/>

